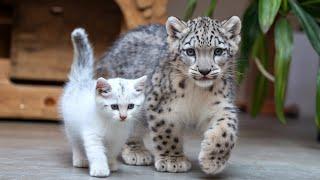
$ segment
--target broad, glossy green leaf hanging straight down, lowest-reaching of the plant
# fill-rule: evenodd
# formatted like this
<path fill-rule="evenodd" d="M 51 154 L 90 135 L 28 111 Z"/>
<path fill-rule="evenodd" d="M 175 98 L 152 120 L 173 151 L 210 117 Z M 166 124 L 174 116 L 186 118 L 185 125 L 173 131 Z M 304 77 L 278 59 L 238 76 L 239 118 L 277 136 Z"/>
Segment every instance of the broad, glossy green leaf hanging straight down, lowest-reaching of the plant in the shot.
<path fill-rule="evenodd" d="M 287 19 L 281 18 L 276 22 L 274 36 L 276 50 L 274 63 L 275 106 L 279 120 L 285 124 L 284 103 L 293 49 L 293 32 Z"/>

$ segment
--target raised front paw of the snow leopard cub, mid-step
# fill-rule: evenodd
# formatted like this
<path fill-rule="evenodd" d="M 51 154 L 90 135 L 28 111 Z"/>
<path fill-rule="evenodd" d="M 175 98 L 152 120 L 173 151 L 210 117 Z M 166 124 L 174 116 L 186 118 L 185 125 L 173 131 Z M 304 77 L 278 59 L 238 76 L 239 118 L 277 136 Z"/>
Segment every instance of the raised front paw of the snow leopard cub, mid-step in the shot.
<path fill-rule="evenodd" d="M 199 153 L 199 163 L 202 171 L 206 174 L 221 172 L 226 167 L 233 146 L 234 143 L 230 141 L 203 140 Z"/>

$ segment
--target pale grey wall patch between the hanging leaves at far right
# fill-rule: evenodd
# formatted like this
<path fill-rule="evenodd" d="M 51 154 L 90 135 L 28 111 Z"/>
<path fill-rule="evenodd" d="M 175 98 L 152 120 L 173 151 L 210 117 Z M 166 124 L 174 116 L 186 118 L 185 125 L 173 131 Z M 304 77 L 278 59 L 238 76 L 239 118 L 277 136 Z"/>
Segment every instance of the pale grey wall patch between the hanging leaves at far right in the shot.
<path fill-rule="evenodd" d="M 302 116 L 314 116 L 319 56 L 302 32 L 295 32 L 287 104 L 297 104 Z"/>

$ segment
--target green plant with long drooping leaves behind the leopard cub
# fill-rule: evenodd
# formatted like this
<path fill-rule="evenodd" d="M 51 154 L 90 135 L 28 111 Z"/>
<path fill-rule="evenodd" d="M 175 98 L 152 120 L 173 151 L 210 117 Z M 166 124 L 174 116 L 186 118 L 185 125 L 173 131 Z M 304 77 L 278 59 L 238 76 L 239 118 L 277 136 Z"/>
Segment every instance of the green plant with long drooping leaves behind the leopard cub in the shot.
<path fill-rule="evenodd" d="M 212 16 L 216 3 L 216 0 L 210 1 L 204 15 Z M 192 16 L 196 4 L 197 0 L 188 1 L 185 19 Z M 239 82 L 245 76 L 249 60 L 253 60 L 259 70 L 253 86 L 251 115 L 256 116 L 261 111 L 271 82 L 274 83 L 276 114 L 282 123 L 286 123 L 284 101 L 293 47 L 293 31 L 288 20 L 291 14 L 298 19 L 312 47 L 320 56 L 320 0 L 252 0 L 242 17 L 241 55 L 237 66 Z M 268 52 L 270 43 L 274 43 L 275 54 Z M 269 73 L 269 58 L 273 55 L 274 72 Z M 316 83 L 316 125 L 320 130 L 320 68 Z"/>

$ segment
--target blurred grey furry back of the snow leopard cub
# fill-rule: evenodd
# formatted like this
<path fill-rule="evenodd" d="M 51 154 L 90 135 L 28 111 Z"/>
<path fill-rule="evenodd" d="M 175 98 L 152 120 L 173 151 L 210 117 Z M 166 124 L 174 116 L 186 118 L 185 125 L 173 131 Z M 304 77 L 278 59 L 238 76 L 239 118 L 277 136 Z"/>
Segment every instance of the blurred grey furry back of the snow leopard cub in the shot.
<path fill-rule="evenodd" d="M 162 25 L 141 26 L 129 31 L 97 62 L 96 77 L 104 77 L 106 72 L 108 77 L 150 76 L 168 54 L 166 36 Z"/>

